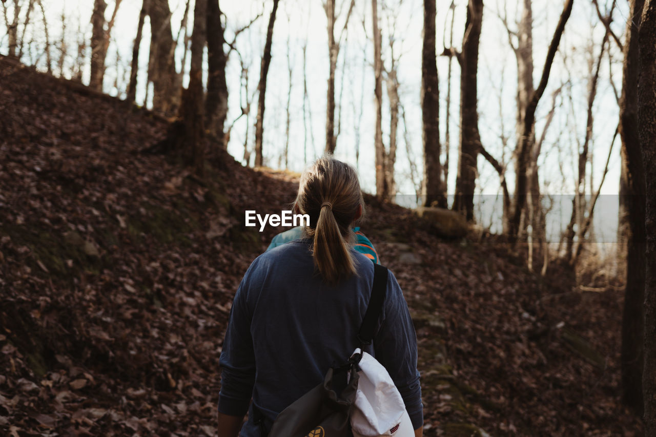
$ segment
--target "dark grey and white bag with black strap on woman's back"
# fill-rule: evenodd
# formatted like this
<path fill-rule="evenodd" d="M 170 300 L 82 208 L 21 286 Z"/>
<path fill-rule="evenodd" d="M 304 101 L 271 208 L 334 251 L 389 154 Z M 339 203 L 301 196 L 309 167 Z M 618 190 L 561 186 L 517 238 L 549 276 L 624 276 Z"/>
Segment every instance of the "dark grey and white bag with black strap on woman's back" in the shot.
<path fill-rule="evenodd" d="M 390 375 L 363 346 L 371 344 L 387 289 L 388 270 L 374 265 L 369 305 L 358 332 L 361 348 L 342 365 L 330 367 L 323 383 L 276 417 L 270 430 L 253 406 L 262 437 L 411 437 L 414 431 Z"/>

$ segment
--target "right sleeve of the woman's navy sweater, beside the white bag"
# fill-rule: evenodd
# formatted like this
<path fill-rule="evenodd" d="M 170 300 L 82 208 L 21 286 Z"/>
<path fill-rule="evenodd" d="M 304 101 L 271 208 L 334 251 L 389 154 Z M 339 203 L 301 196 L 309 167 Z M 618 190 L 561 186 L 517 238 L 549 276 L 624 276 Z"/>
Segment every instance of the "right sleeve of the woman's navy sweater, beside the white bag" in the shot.
<path fill-rule="evenodd" d="M 407 302 L 394 274 L 389 272 L 383 320 L 374 338 L 376 359 L 392 377 L 405 403 L 413 429 L 424 422 L 417 370 L 417 334 Z"/>

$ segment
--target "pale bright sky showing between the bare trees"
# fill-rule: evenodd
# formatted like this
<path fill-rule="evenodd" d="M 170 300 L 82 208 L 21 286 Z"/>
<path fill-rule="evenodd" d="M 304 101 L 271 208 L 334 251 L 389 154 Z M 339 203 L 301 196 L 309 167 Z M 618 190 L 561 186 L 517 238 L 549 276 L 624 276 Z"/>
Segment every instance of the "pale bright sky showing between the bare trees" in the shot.
<path fill-rule="evenodd" d="M 25 0 L 23 0 L 25 1 Z M 113 11 L 113 0 L 108 1 L 106 16 Z M 9 1 L 7 2 L 9 3 Z M 182 20 L 185 0 L 169 0 L 173 11 L 171 18 L 173 32 L 176 34 Z M 194 0 L 191 0 L 192 7 Z M 230 52 L 228 67 L 228 91 L 230 94 L 227 125 L 232 125 L 228 151 L 238 160 L 244 156 L 244 142 L 252 152 L 255 138 L 256 91 L 259 79 L 260 58 L 264 47 L 266 26 L 272 7 L 272 0 L 220 0 L 220 7 L 225 14 L 226 39 L 232 41 L 234 32 L 251 22 L 261 14 L 253 25 L 241 32 L 235 40 L 236 50 Z M 511 26 L 514 26 L 517 1 L 507 1 L 506 10 Z M 543 68 L 546 49 L 562 11 L 562 1 L 536 0 L 533 2 L 533 49 L 534 49 L 534 80 L 535 85 Z M 602 10 L 604 1 L 600 1 Z M 65 16 L 64 43 L 68 46 L 66 66 L 75 63 L 77 41 L 83 37 L 89 41 L 91 25 L 92 0 L 43 0 L 46 19 L 49 25 L 49 36 L 58 48 L 62 37 L 62 12 Z M 348 1 L 337 0 L 338 20 L 335 34 L 338 37 L 344 25 L 345 10 Z M 10 7 L 10 6 L 9 6 Z M 112 31 L 112 42 L 108 53 L 108 70 L 106 72 L 104 91 L 112 95 L 125 93 L 125 78 L 129 75 L 131 51 L 136 23 L 141 7 L 139 0 L 123 0 L 117 12 L 115 28 Z M 514 130 L 516 117 L 516 63 L 514 54 L 508 46 L 508 35 L 502 27 L 499 14 L 504 9 L 502 0 L 485 2 L 483 12 L 483 29 L 480 42 L 478 94 L 480 133 L 485 148 L 497 157 L 510 162 L 514 148 Z M 192 9 L 193 10 L 193 9 Z M 617 35 L 622 35 L 625 27 L 628 7 L 620 0 L 614 12 L 614 22 L 611 25 Z M 341 11 L 341 13 L 339 13 Z M 11 10 L 9 9 L 9 12 Z M 30 56 L 24 56 L 24 62 L 33 62 L 44 68 L 43 56 L 44 37 L 40 10 L 33 14 L 32 24 L 26 31 L 26 39 L 30 37 Z M 453 9 L 455 17 L 453 30 L 453 46 L 459 48 L 464 30 L 466 2 L 455 2 Z M 24 12 L 23 12 L 24 13 Z M 192 14 L 193 16 L 193 14 Z M 190 18 L 192 18 L 192 16 Z M 405 123 L 401 121 L 398 131 L 398 154 L 396 163 L 396 178 L 399 187 L 399 203 L 413 205 L 415 186 L 420 182 L 417 175 L 422 172 L 422 137 L 419 91 L 421 84 L 421 47 L 422 47 L 422 1 L 421 0 L 379 0 L 380 28 L 383 33 L 384 68 L 390 68 L 390 41 L 394 42 L 394 55 L 397 58 L 398 77 L 400 81 L 400 99 L 405 113 Z M 451 10 L 447 1 L 438 1 L 437 14 L 437 45 L 438 52 L 442 45 L 448 45 Z M 396 31 L 392 32 L 392 25 Z M 19 29 L 20 32 L 20 29 Z M 0 23 L 0 52 L 7 51 L 7 37 L 4 22 Z M 373 192 L 375 186 L 373 132 L 375 124 L 375 106 L 373 100 L 373 44 L 371 43 L 371 2 L 356 1 L 356 7 L 350 18 L 345 39 L 342 41 L 337 66 L 336 100 L 338 110 L 336 117 L 340 119 L 341 129 L 337 139 L 335 156 L 358 166 L 361 183 L 366 191 Z M 569 218 L 568 203 L 565 194 L 573 192 L 576 174 L 577 144 L 583 142 L 585 134 L 586 100 L 588 77 L 590 76 L 590 45 L 594 49 L 594 57 L 600 50 L 600 41 L 604 28 L 590 5 L 590 2 L 575 2 L 572 16 L 565 28 L 560 49 L 554 61 L 548 87 L 537 109 L 536 131 L 541 135 L 550 110 L 552 93 L 563 84 L 563 91 L 556 100 L 557 109 L 554 121 L 547 132 L 543 152 L 539 158 L 540 175 L 543 194 L 551 196 L 552 201 L 563 207 L 559 215 Z M 146 104 L 144 97 L 148 64 L 148 41 L 150 26 L 146 20 L 144 40 L 140 51 L 140 70 L 138 79 L 142 84 L 138 89 L 137 102 Z M 444 38 L 444 40 L 443 40 Z M 304 79 L 303 79 L 303 47 L 306 47 L 306 85 L 308 99 L 305 101 L 306 117 L 304 119 Z M 57 49 L 54 58 L 57 58 Z M 594 150 L 594 161 L 588 169 L 592 174 L 592 184 L 596 190 L 602 177 L 606 156 L 611 146 L 611 138 L 617 126 L 618 109 L 611 87 L 611 75 L 615 87 L 621 87 L 621 53 L 611 44 L 612 61 L 607 56 L 602 64 L 602 72 L 598 85 L 598 96 L 594 104 L 595 125 L 592 134 L 591 150 Z M 178 71 L 182 51 L 176 53 Z M 118 60 L 118 62 L 117 62 Z M 65 66 L 64 75 L 70 75 Z M 248 72 L 248 94 L 245 93 L 245 75 L 242 66 Z M 289 81 L 288 68 L 291 66 L 292 78 Z M 274 27 L 272 47 L 272 63 L 268 76 L 266 93 L 266 112 L 264 117 L 264 158 L 270 167 L 284 166 L 281 159 L 286 135 L 287 94 L 290 93 L 290 135 L 289 135 L 289 169 L 302 171 L 308 163 L 323 153 L 325 141 L 325 101 L 328 75 L 327 57 L 327 22 L 321 1 L 319 0 L 281 0 Z M 440 136 L 445 150 L 445 113 L 447 110 L 447 73 L 448 60 L 438 57 L 440 74 Z M 83 70 L 85 83 L 88 82 L 89 68 L 85 63 Z M 55 72 L 58 73 L 58 72 Z M 451 105 L 450 105 L 450 141 L 449 141 L 449 192 L 455 187 L 457 173 L 457 146 L 459 142 L 459 75 L 457 62 L 452 64 L 451 72 Z M 115 77 L 119 77 L 118 87 L 114 87 Z M 291 91 L 290 91 L 291 85 Z M 383 89 L 385 84 L 383 83 Z M 383 138 L 388 142 L 389 111 L 388 101 L 384 92 L 383 100 Z M 251 114 L 241 115 L 241 108 L 247 100 L 252 101 Z M 241 117 L 240 117 L 241 115 Z M 506 148 L 502 146 L 501 136 L 508 138 Z M 356 154 L 359 159 L 356 161 Z M 444 160 L 444 152 L 442 161 Z M 251 164 L 253 156 L 251 156 Z M 416 167 L 415 180 L 411 178 L 411 168 Z M 619 181 L 619 138 L 615 142 L 609 172 L 602 188 L 600 205 L 597 210 L 595 225 L 600 230 L 608 228 L 608 237 L 615 236 L 617 194 Z M 478 193 L 482 195 L 478 201 L 479 221 L 487 226 L 492 221 L 493 227 L 499 220 L 491 220 L 499 213 L 501 198 L 499 198 L 499 176 L 482 157 L 478 161 Z M 591 170 L 591 171 L 590 171 Z M 508 185 L 512 190 L 514 175 L 512 164 L 507 175 Z M 413 183 L 414 182 L 414 183 Z M 588 180 L 589 182 L 589 180 Z M 588 193 L 590 188 L 588 187 Z M 559 197 L 560 196 L 560 197 Z M 615 200 L 613 200 L 615 199 Z M 613 208 L 615 212 L 613 213 Z M 555 210 L 554 210 L 555 211 Z M 600 213 L 600 211 L 602 213 Z M 613 220 L 615 220 L 614 223 Z M 551 234 L 557 236 L 558 228 L 562 228 L 562 220 L 551 220 Z"/>

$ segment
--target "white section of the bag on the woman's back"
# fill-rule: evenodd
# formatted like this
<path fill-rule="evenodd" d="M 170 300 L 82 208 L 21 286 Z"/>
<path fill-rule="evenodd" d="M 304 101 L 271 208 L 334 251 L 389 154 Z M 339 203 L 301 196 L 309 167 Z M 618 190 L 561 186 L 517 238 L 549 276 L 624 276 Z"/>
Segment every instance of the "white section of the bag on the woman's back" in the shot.
<path fill-rule="evenodd" d="M 361 353 L 357 348 L 355 354 Z M 358 392 L 351 413 L 355 437 L 414 437 L 410 417 L 403 398 L 385 367 L 373 356 L 362 352 L 359 361 Z"/>

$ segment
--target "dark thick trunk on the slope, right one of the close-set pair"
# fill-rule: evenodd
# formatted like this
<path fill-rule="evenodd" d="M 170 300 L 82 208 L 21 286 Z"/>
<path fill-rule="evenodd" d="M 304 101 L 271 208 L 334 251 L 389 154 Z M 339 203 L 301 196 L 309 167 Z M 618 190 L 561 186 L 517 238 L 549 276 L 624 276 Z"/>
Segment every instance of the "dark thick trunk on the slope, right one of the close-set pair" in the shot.
<path fill-rule="evenodd" d="M 218 138 L 221 147 L 228 146 L 224 135 L 226 115 L 228 115 L 228 84 L 226 83 L 226 62 L 228 56 L 223 49 L 224 29 L 221 24 L 221 9 L 218 1 L 207 4 L 207 100 L 205 101 L 205 126 L 207 131 Z"/>

